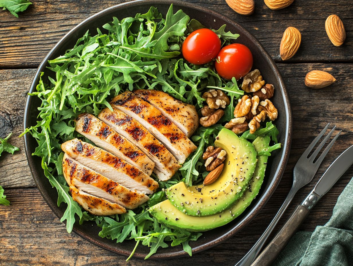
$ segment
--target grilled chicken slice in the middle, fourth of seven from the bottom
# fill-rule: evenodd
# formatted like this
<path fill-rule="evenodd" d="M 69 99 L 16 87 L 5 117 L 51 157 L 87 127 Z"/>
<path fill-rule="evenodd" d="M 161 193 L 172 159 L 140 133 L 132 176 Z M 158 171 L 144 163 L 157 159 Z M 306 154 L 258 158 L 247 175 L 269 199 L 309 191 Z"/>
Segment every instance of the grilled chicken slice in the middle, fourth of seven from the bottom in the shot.
<path fill-rule="evenodd" d="M 154 168 L 148 156 L 134 146 L 130 141 L 116 133 L 110 126 L 91 114 L 83 113 L 76 119 L 76 131 L 107 150 L 115 156 L 124 159 L 129 164 L 151 175 Z"/>

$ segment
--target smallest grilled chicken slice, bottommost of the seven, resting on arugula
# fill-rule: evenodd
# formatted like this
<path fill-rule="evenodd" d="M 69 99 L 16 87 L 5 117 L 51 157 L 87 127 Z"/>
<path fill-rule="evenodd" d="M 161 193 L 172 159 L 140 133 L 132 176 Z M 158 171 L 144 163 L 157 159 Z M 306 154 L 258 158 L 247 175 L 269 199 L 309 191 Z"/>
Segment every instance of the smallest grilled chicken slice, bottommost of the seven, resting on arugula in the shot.
<path fill-rule="evenodd" d="M 79 190 L 75 186 L 70 187 L 72 199 L 77 201 L 86 211 L 94 215 L 113 215 L 126 213 L 126 209 L 118 203 L 92 196 Z"/>

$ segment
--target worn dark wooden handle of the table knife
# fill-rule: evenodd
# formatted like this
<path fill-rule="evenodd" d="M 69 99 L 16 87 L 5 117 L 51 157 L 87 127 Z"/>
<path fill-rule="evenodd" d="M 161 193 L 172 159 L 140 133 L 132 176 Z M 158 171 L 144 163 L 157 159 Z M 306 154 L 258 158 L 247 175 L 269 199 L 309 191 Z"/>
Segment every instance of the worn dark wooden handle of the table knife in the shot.
<path fill-rule="evenodd" d="M 309 215 L 310 210 L 303 206 L 298 205 L 293 211 L 292 215 L 288 218 L 281 230 L 268 244 L 268 246 L 260 253 L 251 266 L 269 266 L 279 256 L 282 249 L 289 242 L 294 233 L 299 229 L 306 217 Z"/>

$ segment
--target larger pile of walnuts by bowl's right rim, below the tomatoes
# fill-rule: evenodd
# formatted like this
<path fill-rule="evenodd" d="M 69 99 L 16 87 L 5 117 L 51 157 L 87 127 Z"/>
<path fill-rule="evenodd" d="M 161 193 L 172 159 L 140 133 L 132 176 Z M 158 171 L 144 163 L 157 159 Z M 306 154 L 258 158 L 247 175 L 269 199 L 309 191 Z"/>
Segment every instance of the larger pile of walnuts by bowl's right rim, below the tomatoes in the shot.
<path fill-rule="evenodd" d="M 232 130 L 235 134 L 250 129 L 250 133 L 253 134 L 266 117 L 273 121 L 278 116 L 277 108 L 269 100 L 275 88 L 272 84 L 265 84 L 258 69 L 249 72 L 244 77 L 241 88 L 244 91 L 253 92 L 253 96 L 244 95 L 238 100 L 234 108 L 235 118 L 229 121 L 225 128 Z"/>

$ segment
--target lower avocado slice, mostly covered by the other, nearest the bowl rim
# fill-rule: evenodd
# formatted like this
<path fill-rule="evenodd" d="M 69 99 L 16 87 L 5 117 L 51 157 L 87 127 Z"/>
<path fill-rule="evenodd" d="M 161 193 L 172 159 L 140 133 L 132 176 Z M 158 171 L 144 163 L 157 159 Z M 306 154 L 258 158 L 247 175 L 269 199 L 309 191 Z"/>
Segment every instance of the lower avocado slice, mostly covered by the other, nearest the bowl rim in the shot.
<path fill-rule="evenodd" d="M 258 137 L 253 145 L 257 151 L 268 147 L 269 137 Z M 242 197 L 230 208 L 210 216 L 191 216 L 179 211 L 169 200 L 164 200 L 149 208 L 149 212 L 160 222 L 168 227 L 182 228 L 188 231 L 207 231 L 225 225 L 237 218 L 250 205 L 259 193 L 263 183 L 268 156 L 257 157 L 255 172 L 244 190 L 241 191 Z"/>

